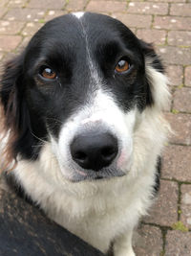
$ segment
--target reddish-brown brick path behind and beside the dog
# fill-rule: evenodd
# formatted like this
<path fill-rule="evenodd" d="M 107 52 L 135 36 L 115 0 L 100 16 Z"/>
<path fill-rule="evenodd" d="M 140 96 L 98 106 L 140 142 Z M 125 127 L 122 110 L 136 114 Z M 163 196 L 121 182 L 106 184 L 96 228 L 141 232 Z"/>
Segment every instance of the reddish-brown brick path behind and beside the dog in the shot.
<path fill-rule="evenodd" d="M 156 44 L 171 81 L 159 199 L 136 235 L 138 256 L 191 255 L 191 0 L 0 0 L 0 59 L 11 58 L 53 17 L 74 11 L 117 17 Z M 184 231 L 184 232 L 183 232 Z"/>

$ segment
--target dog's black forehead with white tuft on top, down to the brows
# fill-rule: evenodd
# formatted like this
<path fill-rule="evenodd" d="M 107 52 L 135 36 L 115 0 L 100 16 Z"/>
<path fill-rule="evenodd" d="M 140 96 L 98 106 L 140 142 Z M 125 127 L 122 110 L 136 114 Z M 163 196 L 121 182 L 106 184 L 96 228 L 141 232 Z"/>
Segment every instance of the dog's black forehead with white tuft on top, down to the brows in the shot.
<path fill-rule="evenodd" d="M 42 60 L 59 66 L 82 66 L 94 59 L 100 66 L 105 61 L 101 57 L 116 59 L 127 52 L 139 63 L 139 40 L 124 24 L 104 14 L 77 12 L 47 22 L 32 37 L 25 62 L 32 67 Z"/>

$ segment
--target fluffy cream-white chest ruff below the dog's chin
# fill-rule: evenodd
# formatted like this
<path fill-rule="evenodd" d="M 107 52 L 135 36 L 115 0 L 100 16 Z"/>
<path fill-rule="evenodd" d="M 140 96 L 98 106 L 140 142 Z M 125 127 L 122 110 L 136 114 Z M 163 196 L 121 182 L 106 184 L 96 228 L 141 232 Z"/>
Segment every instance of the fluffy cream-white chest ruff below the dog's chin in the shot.
<path fill-rule="evenodd" d="M 47 182 L 44 172 L 39 175 L 36 171 L 39 168 L 29 163 L 27 166 L 26 169 L 26 165 L 20 163 L 14 172 L 32 200 L 38 202 L 53 221 L 102 252 L 108 250 L 118 235 L 132 229 L 138 216 L 149 206 L 154 182 L 149 174 L 147 178 L 125 175 L 101 182 L 54 184 L 57 175 Z"/>

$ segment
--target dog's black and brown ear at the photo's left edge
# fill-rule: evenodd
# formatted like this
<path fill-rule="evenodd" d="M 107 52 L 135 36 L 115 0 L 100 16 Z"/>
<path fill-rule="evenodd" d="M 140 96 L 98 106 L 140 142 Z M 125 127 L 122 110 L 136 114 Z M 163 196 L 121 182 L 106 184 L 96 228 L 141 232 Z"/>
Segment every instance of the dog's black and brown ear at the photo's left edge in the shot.
<path fill-rule="evenodd" d="M 11 163 L 17 156 L 18 141 L 30 125 L 23 97 L 23 54 L 6 63 L 0 84 L 1 138 L 5 159 Z"/>

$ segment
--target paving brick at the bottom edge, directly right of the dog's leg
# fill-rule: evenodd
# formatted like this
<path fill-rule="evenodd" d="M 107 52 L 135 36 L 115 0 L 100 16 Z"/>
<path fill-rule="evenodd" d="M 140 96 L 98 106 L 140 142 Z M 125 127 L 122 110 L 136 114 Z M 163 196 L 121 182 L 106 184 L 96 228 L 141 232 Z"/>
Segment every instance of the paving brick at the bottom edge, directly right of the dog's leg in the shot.
<path fill-rule="evenodd" d="M 162 251 L 161 231 L 156 226 L 141 224 L 133 239 L 137 256 L 156 256 Z M 152 244 L 152 246 L 151 246 Z"/>

